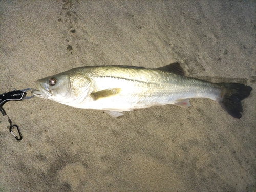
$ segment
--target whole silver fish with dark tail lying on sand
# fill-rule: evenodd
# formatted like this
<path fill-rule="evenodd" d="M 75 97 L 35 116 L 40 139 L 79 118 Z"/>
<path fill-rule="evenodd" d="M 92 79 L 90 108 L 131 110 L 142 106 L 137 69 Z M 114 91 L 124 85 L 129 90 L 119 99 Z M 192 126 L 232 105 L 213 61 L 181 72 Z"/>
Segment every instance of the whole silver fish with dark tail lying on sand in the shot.
<path fill-rule="evenodd" d="M 113 117 L 125 111 L 173 104 L 191 106 L 190 98 L 208 98 L 232 117 L 241 118 L 241 101 L 252 88 L 240 83 L 212 83 L 186 77 L 179 63 L 147 69 L 136 66 L 84 66 L 36 81 L 32 94 Z"/>

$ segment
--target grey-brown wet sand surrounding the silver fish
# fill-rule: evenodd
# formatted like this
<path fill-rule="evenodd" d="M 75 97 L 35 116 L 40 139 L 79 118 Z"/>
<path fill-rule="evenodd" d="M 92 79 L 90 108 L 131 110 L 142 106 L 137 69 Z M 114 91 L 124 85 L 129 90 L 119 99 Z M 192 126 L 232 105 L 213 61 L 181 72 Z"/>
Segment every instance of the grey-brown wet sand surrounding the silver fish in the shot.
<path fill-rule="evenodd" d="M 33 98 L 4 105 L 0 191 L 255 191 L 255 1 L 2 1 L 2 93 L 79 66 L 158 68 L 253 88 L 240 120 L 208 99 L 112 118 Z"/>

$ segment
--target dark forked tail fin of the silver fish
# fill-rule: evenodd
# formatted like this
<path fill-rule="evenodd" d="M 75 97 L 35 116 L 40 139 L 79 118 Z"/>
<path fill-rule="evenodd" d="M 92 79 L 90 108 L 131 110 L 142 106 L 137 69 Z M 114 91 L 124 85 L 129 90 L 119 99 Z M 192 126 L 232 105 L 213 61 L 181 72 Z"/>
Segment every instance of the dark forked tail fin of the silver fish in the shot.
<path fill-rule="evenodd" d="M 222 108 L 232 117 L 240 119 L 243 112 L 241 101 L 250 95 L 252 88 L 239 83 L 216 83 L 224 87 L 218 101 Z"/>

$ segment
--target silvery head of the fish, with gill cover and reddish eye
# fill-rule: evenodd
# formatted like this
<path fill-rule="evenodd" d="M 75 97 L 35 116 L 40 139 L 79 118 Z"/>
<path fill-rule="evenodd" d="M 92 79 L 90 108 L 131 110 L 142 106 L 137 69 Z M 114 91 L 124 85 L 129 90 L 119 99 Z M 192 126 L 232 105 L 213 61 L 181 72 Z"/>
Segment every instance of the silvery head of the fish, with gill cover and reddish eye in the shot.
<path fill-rule="evenodd" d="M 84 100 L 90 91 L 91 81 L 80 73 L 64 72 L 36 81 L 32 94 L 56 102 L 75 103 Z"/>

